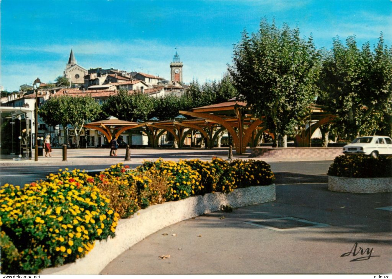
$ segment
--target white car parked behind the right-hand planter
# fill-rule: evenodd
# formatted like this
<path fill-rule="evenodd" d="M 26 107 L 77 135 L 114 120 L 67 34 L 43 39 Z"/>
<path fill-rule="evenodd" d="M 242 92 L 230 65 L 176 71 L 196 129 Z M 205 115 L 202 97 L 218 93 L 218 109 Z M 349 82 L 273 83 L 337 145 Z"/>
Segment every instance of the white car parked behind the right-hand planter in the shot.
<path fill-rule="evenodd" d="M 343 147 L 343 153 L 370 155 L 392 155 L 392 139 L 386 136 L 359 137 Z"/>

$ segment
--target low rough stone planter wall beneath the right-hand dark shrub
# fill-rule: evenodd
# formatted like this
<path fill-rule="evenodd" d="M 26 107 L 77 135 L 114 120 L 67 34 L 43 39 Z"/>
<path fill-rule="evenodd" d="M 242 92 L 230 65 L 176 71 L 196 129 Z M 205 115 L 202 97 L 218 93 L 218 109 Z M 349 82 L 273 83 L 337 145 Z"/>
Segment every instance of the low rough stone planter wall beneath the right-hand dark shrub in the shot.
<path fill-rule="evenodd" d="M 328 190 L 348 193 L 392 193 L 392 178 L 328 176 Z"/>

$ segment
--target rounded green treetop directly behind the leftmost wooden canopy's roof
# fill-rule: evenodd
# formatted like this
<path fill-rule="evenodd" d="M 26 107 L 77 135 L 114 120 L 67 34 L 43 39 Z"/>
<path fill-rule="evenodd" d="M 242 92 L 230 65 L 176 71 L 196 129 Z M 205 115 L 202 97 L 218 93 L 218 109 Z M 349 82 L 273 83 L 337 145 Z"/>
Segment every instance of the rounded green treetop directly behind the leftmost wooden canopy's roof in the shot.
<path fill-rule="evenodd" d="M 113 115 L 126 121 L 147 120 L 147 116 L 153 109 L 152 97 L 142 94 L 140 91 L 129 94 L 124 89 L 121 89 L 118 94 L 110 96 L 102 106 L 102 111 L 106 116 Z"/>

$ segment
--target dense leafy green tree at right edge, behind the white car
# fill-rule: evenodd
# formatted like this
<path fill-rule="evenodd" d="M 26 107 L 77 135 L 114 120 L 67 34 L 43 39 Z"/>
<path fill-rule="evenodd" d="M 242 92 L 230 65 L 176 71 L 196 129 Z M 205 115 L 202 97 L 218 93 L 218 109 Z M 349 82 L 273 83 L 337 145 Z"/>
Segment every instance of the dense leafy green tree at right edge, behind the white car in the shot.
<path fill-rule="evenodd" d="M 336 124 L 347 139 L 378 131 L 391 134 L 392 48 L 379 37 L 374 51 L 369 43 L 358 49 L 355 36 L 346 46 L 334 38 L 323 61 L 319 79 L 320 101 L 337 116 Z"/>

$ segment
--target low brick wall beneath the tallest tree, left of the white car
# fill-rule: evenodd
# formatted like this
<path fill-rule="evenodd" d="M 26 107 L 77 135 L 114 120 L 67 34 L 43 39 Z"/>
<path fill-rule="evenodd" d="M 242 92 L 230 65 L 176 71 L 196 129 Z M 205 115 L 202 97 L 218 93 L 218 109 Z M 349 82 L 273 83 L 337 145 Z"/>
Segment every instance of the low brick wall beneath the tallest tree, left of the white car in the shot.
<path fill-rule="evenodd" d="M 296 160 L 317 160 L 329 161 L 334 160 L 336 156 L 343 154 L 343 148 L 325 148 L 325 147 L 256 147 L 251 148 L 252 152 L 249 157 L 260 157 L 270 159 L 281 159 L 282 161 Z"/>

